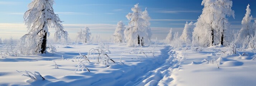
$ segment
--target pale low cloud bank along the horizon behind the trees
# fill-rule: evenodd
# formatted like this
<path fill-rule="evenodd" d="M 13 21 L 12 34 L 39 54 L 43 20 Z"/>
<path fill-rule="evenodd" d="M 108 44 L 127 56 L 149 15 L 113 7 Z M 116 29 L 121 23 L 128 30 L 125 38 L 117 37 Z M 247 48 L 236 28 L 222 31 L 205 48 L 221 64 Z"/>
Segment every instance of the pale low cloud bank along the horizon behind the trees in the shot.
<path fill-rule="evenodd" d="M 116 24 L 63 24 L 63 27 L 68 32 L 71 39 L 75 39 L 77 32 L 80 28 L 84 29 L 89 27 L 92 35 L 100 35 L 101 38 L 112 37 Z M 27 26 L 24 23 L 0 23 L 0 38 L 10 38 L 10 36 L 18 39 L 24 34 L 27 34 Z M 170 28 L 163 27 L 152 27 L 152 38 L 157 37 L 158 39 L 163 39 L 166 37 Z M 183 28 L 173 28 L 174 32 L 182 32 Z M 50 38 L 53 38 L 55 29 L 49 28 Z"/>

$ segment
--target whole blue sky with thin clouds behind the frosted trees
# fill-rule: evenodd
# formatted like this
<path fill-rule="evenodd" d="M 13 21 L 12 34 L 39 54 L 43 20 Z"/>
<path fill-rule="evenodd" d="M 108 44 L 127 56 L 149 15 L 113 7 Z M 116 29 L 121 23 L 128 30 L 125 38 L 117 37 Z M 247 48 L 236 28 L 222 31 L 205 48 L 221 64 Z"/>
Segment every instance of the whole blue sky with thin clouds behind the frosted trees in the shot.
<path fill-rule="evenodd" d="M 240 29 L 241 20 L 250 4 L 253 18 L 256 18 L 256 0 L 232 0 L 235 19 L 229 18 L 231 29 Z M 23 14 L 31 0 L 0 1 L 0 38 L 20 38 L 27 33 L 23 24 Z M 202 14 L 202 0 L 55 0 L 53 9 L 59 15 L 64 28 L 75 38 L 76 32 L 86 25 L 93 35 L 99 34 L 109 38 L 114 32 L 117 22 L 123 20 L 136 3 L 142 10 L 147 7 L 151 17 L 153 38 L 164 39 L 170 28 L 174 32 L 182 32 L 186 21 L 196 22 Z M 255 16 L 255 17 L 254 17 Z M 54 29 L 49 30 L 54 33 Z M 53 34 L 51 34 L 52 36 Z"/>

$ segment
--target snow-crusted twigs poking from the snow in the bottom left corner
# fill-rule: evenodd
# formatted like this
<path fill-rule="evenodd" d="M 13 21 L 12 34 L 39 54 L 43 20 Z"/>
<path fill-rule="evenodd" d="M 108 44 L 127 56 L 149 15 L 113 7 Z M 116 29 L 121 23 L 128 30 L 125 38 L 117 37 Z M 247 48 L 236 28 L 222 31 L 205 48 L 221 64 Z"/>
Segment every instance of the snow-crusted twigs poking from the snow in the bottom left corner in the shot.
<path fill-rule="evenodd" d="M 34 81 L 45 80 L 45 78 L 39 72 L 36 72 L 36 71 L 34 73 L 29 72 L 29 71 L 17 71 L 17 72 L 25 72 L 26 74 L 23 74 L 22 76 L 29 77 Z"/>

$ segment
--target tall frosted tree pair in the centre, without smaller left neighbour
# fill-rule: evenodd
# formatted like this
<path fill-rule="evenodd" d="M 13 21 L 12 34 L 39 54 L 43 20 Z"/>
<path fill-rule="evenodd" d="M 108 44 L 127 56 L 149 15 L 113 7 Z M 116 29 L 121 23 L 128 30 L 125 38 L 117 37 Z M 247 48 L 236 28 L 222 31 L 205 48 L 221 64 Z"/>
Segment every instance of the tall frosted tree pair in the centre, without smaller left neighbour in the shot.
<path fill-rule="evenodd" d="M 145 10 L 141 12 L 141 9 L 138 6 L 139 4 L 134 5 L 132 8 L 133 13 L 129 13 L 126 15 L 127 19 L 131 20 L 129 22 L 129 28 L 125 29 L 125 40 L 127 41 L 127 46 L 134 47 L 134 46 L 144 46 L 145 42 L 151 37 L 151 33 L 149 30 L 149 21 L 146 18 L 148 16 L 147 11 Z M 144 17 L 143 17 L 144 16 Z M 145 20 L 146 19 L 146 20 Z"/>

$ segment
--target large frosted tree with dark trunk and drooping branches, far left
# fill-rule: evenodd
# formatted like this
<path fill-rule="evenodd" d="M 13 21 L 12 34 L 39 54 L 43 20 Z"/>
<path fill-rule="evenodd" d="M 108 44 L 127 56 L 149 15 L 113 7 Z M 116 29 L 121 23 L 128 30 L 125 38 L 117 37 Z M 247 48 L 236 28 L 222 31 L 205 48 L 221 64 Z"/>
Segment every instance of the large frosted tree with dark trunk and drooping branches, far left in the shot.
<path fill-rule="evenodd" d="M 22 39 L 27 48 L 26 54 L 45 53 L 47 35 L 49 36 L 48 27 L 55 28 L 55 39 L 61 37 L 67 40 L 67 32 L 64 31 L 62 21 L 53 11 L 54 0 L 32 0 L 28 5 L 28 11 L 24 14 L 24 22 L 28 27 L 28 34 Z M 27 41 L 25 41 L 27 40 Z"/>

